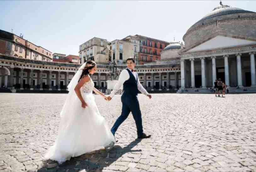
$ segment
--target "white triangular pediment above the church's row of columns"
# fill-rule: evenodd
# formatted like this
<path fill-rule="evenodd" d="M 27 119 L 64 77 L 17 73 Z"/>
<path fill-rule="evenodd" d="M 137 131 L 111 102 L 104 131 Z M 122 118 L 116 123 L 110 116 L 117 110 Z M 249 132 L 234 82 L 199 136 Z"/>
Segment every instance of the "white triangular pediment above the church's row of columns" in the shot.
<path fill-rule="evenodd" d="M 191 48 L 186 52 L 204 51 L 204 50 L 211 50 L 211 49 L 218 49 L 218 48 L 229 48 L 229 47 L 236 47 L 236 46 L 255 44 L 255 43 L 256 41 L 218 35 L 208 41 L 205 41 L 204 43 L 201 43 L 196 47 Z"/>

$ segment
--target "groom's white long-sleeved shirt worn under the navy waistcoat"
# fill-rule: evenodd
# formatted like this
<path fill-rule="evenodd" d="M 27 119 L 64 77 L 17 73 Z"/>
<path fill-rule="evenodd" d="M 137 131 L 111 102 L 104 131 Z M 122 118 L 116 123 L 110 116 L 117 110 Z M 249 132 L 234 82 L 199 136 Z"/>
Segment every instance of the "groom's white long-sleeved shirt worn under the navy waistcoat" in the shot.
<path fill-rule="evenodd" d="M 128 68 L 128 70 L 131 71 L 131 69 Z M 135 79 L 137 78 L 138 79 L 138 82 L 137 82 L 137 86 L 138 86 L 138 90 L 144 94 L 144 95 L 148 95 L 148 92 L 146 89 L 144 89 L 144 87 L 141 85 L 140 83 L 140 80 L 139 80 L 139 76 L 136 72 L 132 72 L 131 73 L 133 74 L 133 76 L 135 77 Z M 119 90 L 119 88 L 121 87 L 121 85 L 124 84 L 125 81 L 127 81 L 128 79 L 130 78 L 130 75 L 129 75 L 129 72 L 124 69 L 122 70 L 122 72 L 120 73 L 120 76 L 119 76 L 119 79 L 118 79 L 118 82 L 115 84 L 114 86 L 114 89 L 113 91 L 111 92 L 111 94 L 109 95 L 111 98 L 114 97 L 114 95 L 116 94 L 116 92 Z M 146 84 L 146 83 L 145 83 Z"/>

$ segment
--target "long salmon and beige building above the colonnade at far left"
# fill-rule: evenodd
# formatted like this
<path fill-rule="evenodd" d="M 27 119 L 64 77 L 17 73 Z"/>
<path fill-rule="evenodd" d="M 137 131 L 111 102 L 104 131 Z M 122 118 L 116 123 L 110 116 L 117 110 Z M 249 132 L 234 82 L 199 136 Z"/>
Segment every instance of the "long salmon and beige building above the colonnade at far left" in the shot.
<path fill-rule="evenodd" d="M 0 53 L 16 58 L 26 58 L 40 61 L 52 61 L 52 52 L 37 46 L 23 37 L 0 30 Z"/>

